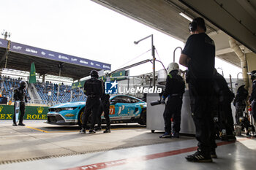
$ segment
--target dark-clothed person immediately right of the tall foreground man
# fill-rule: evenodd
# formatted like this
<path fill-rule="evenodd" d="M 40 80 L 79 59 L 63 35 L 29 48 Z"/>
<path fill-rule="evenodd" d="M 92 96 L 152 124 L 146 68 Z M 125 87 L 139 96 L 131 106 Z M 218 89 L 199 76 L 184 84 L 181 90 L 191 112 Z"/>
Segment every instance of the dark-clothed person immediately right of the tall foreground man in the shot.
<path fill-rule="evenodd" d="M 221 136 L 225 140 L 236 140 L 234 130 L 234 120 L 231 109 L 231 102 L 235 97 L 234 93 L 230 91 L 225 78 L 214 69 L 214 90 L 217 93 L 217 104 L 219 112 L 219 121 L 224 125 L 226 133 Z M 220 129 L 222 130 L 222 129 Z"/>

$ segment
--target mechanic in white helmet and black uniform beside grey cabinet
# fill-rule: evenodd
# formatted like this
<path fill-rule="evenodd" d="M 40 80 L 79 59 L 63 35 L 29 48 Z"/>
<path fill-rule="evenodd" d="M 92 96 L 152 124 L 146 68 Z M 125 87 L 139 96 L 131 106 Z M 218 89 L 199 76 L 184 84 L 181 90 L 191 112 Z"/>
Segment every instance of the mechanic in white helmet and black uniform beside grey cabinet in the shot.
<path fill-rule="evenodd" d="M 178 69 L 178 63 L 170 63 L 167 69 L 165 91 L 162 95 L 162 103 L 168 97 L 164 112 L 165 134 L 159 136 L 159 138 L 171 137 L 171 117 L 173 117 L 172 136 L 178 138 L 181 130 L 181 106 L 182 96 L 185 92 L 185 82 L 178 74 Z"/>

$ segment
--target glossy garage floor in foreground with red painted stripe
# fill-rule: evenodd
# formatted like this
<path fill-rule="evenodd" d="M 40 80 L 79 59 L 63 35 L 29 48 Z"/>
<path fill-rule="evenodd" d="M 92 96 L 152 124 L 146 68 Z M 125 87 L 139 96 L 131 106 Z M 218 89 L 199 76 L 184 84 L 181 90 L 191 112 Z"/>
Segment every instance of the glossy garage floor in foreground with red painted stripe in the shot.
<path fill-rule="evenodd" d="M 165 139 L 171 140 L 171 139 Z M 256 141 L 219 142 L 213 163 L 190 163 L 195 139 L 1 165 L 0 169 L 255 169 Z M 108 143 L 106 143 L 108 145 Z"/>

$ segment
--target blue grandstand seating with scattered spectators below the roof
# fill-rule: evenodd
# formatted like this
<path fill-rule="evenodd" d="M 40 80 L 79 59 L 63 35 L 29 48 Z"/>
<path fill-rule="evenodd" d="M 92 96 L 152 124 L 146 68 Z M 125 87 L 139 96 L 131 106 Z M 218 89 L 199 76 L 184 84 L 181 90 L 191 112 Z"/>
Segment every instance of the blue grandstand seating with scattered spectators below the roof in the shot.
<path fill-rule="evenodd" d="M 0 78 L 1 80 L 1 78 Z M 8 100 L 13 101 L 13 89 L 18 87 L 19 79 L 12 79 L 9 77 L 4 77 L 4 87 L 2 90 L 2 96 L 7 97 Z M 34 84 L 37 93 L 41 98 L 41 104 L 51 103 L 66 103 L 70 101 L 72 92 L 72 101 L 85 101 L 86 97 L 81 89 L 72 89 L 71 85 L 59 85 L 59 97 L 58 85 L 50 82 L 37 82 Z M 51 96 L 48 96 L 48 92 L 51 91 Z M 30 98 L 29 93 L 26 94 Z"/>

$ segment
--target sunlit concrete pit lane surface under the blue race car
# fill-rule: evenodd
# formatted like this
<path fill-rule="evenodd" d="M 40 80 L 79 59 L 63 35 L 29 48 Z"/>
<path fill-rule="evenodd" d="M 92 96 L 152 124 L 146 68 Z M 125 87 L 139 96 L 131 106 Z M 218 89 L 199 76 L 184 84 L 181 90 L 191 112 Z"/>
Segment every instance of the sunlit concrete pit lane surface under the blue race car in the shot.
<path fill-rule="evenodd" d="M 0 122 L 0 164 L 58 158 L 89 152 L 117 150 L 193 139 L 159 139 L 163 132 L 151 133 L 146 126 L 137 123 L 113 124 L 111 133 L 79 134 L 78 125 L 60 126 L 43 123 L 42 120 L 25 120 L 26 126 L 12 126 L 11 120 Z M 194 138 L 195 139 L 195 138 Z"/>

